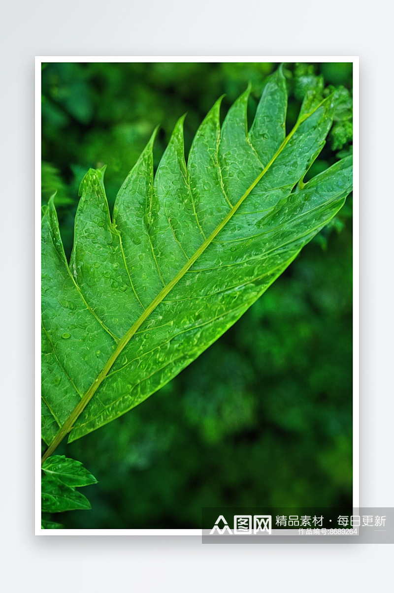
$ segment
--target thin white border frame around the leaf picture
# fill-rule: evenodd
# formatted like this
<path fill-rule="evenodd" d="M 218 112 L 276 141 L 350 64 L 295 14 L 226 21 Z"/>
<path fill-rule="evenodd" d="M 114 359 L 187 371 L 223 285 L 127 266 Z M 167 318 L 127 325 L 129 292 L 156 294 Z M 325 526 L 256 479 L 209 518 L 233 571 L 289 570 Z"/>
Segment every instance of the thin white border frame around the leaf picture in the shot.
<path fill-rule="evenodd" d="M 42 62 L 352 62 L 353 64 L 353 507 L 360 506 L 359 457 L 359 59 L 358 56 L 36 56 L 35 393 L 36 535 L 202 535 L 201 529 L 41 529 L 41 64 Z"/>

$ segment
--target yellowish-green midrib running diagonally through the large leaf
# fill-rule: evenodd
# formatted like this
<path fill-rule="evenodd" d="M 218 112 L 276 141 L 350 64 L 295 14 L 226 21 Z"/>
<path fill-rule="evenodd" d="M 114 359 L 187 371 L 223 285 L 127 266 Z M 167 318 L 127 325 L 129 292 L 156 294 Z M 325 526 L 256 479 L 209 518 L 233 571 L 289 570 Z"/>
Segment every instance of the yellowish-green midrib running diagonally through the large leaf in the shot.
<path fill-rule="evenodd" d="M 179 272 L 174 276 L 174 278 L 172 280 L 170 280 L 170 282 L 166 286 L 164 286 L 164 288 L 159 292 L 157 297 L 155 297 L 153 299 L 151 304 L 148 305 L 148 307 L 139 316 L 139 318 L 135 321 L 135 323 L 131 326 L 131 328 L 128 331 L 126 331 L 126 333 L 124 334 L 124 336 L 122 338 L 120 338 L 119 342 L 117 343 L 116 349 L 113 351 L 112 355 L 110 356 L 110 358 L 104 365 L 103 369 L 101 369 L 99 375 L 97 375 L 96 380 L 94 380 L 94 382 L 90 385 L 90 387 L 88 388 L 88 390 L 86 391 L 84 396 L 81 398 L 81 401 L 78 403 L 78 405 L 71 412 L 68 419 L 63 424 L 62 428 L 59 430 L 59 432 L 56 434 L 55 438 L 53 439 L 53 441 L 47 448 L 47 450 L 41 460 L 42 464 L 44 463 L 44 461 L 47 460 L 48 457 L 50 457 L 50 455 L 52 455 L 52 453 L 55 451 L 55 449 L 58 447 L 58 445 L 62 442 L 62 440 L 66 436 L 66 434 L 71 431 L 71 429 L 74 426 L 74 422 L 77 420 L 78 416 L 81 415 L 81 413 L 83 412 L 83 410 L 85 409 L 87 404 L 90 402 L 91 398 L 94 396 L 94 394 L 96 393 L 96 391 L 99 388 L 99 386 L 101 385 L 101 383 L 107 377 L 107 374 L 109 373 L 110 369 L 112 368 L 112 365 L 115 363 L 117 357 L 120 355 L 122 350 L 126 347 L 126 345 L 128 345 L 129 341 L 134 336 L 134 334 L 138 330 L 138 328 L 142 325 L 142 323 L 144 323 L 144 321 L 147 319 L 147 317 L 149 317 L 149 315 L 152 313 L 152 311 L 155 310 L 157 305 L 160 304 L 161 301 L 163 301 L 163 299 L 167 296 L 167 294 L 169 294 L 169 292 L 174 288 L 174 286 L 177 284 L 177 282 L 179 282 L 179 280 L 181 278 L 183 278 L 185 273 L 188 272 L 189 268 L 192 267 L 193 263 L 195 263 L 196 260 L 198 260 L 199 256 L 201 256 L 201 254 L 204 253 L 205 249 L 209 246 L 209 244 L 211 244 L 211 242 L 218 235 L 218 233 L 225 227 L 227 222 L 230 221 L 230 219 L 233 217 L 233 215 L 240 208 L 240 206 L 242 205 L 242 203 L 244 202 L 246 197 L 249 196 L 250 192 L 252 192 L 252 190 L 259 183 L 260 179 L 265 175 L 266 171 L 268 171 L 268 169 L 271 167 L 272 163 L 275 162 L 275 160 L 277 159 L 279 154 L 281 154 L 282 150 L 288 144 L 291 137 L 294 135 L 294 133 L 296 132 L 298 127 L 301 125 L 301 123 L 303 123 L 306 119 L 308 119 L 310 116 L 312 116 L 313 113 L 315 113 L 315 111 L 317 111 L 317 109 L 319 109 L 319 107 L 328 100 L 331 100 L 331 95 L 329 97 L 325 98 L 323 101 L 321 101 L 321 103 L 319 103 L 313 109 L 313 111 L 310 111 L 310 113 L 304 114 L 304 116 L 300 117 L 297 120 L 297 122 L 295 123 L 295 126 L 293 127 L 291 132 L 288 133 L 288 135 L 286 136 L 286 138 L 284 139 L 282 144 L 279 146 L 277 152 L 275 152 L 274 156 L 271 158 L 271 160 L 268 162 L 268 164 L 266 164 L 265 168 L 263 168 L 261 173 L 258 175 L 258 177 L 256 177 L 255 181 L 253 181 L 253 183 L 246 190 L 246 192 L 243 194 L 243 196 L 240 197 L 238 202 L 234 206 L 232 206 L 231 210 L 224 217 L 223 221 L 221 221 L 220 224 L 218 224 L 218 226 L 214 229 L 214 231 L 212 231 L 212 233 L 209 235 L 209 237 L 206 238 L 204 243 L 201 244 L 201 246 L 198 248 L 198 250 L 196 250 L 195 253 L 192 255 L 192 257 L 190 257 L 188 262 L 186 262 L 185 266 L 183 266 L 182 269 L 179 270 Z"/>

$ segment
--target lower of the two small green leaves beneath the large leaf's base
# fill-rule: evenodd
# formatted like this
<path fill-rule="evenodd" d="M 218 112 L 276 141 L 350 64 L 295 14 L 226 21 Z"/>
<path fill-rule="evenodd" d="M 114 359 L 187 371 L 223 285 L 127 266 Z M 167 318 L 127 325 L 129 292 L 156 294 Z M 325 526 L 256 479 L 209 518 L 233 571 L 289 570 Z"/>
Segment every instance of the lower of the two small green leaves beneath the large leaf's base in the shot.
<path fill-rule="evenodd" d="M 46 513 L 90 509 L 88 499 L 54 476 L 45 474 L 41 480 L 41 509 Z"/>

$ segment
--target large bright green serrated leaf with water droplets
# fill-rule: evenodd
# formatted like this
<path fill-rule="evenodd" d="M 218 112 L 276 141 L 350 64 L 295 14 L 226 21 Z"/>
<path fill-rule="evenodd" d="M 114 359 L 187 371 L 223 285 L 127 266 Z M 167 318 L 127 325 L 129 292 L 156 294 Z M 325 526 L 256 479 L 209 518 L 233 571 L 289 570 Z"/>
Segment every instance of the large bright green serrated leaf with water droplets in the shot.
<path fill-rule="evenodd" d="M 281 68 L 265 84 L 249 133 L 248 95 L 221 129 L 215 103 L 188 165 L 182 117 L 155 176 L 154 132 L 117 195 L 112 221 L 103 170 L 88 171 L 69 266 L 49 200 L 42 221 L 44 458 L 66 433 L 74 441 L 170 381 L 344 204 L 351 158 L 301 183 L 332 125 L 332 95 L 317 104 L 306 99 L 286 138 Z"/>

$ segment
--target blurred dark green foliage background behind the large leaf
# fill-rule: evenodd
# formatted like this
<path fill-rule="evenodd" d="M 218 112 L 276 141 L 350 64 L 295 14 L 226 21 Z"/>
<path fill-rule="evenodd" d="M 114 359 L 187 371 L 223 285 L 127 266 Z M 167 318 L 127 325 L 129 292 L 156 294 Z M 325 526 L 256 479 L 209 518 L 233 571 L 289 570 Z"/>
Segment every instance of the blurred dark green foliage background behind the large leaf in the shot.
<path fill-rule="evenodd" d="M 186 154 L 215 100 L 252 83 L 249 123 L 274 63 L 48 63 L 42 69 L 42 199 L 55 191 L 66 255 L 78 186 L 107 164 L 110 209 L 150 138 L 155 165 L 186 111 Z M 351 154 L 351 63 L 285 65 L 291 129 L 307 88 L 335 91 L 308 177 Z M 66 528 L 201 527 L 202 507 L 352 505 L 351 196 L 246 314 L 144 403 L 58 452 L 99 480 Z"/>

